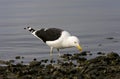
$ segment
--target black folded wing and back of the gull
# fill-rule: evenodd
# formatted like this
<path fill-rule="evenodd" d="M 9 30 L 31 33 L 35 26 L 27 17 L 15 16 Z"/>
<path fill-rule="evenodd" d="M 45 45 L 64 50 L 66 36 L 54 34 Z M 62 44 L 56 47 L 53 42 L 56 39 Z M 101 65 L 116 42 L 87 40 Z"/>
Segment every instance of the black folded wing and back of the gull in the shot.
<path fill-rule="evenodd" d="M 62 33 L 62 29 L 58 29 L 58 28 L 49 28 L 46 29 L 42 28 L 38 31 L 36 31 L 36 36 L 38 36 L 39 38 L 41 38 L 44 42 L 46 41 L 54 41 L 57 40 Z"/>

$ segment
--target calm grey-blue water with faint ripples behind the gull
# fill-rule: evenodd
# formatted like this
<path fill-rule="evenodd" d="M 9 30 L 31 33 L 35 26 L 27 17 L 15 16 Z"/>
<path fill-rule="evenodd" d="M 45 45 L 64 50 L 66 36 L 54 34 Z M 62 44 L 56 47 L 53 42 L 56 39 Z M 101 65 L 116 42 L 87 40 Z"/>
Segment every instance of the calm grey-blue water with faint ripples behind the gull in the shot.
<path fill-rule="evenodd" d="M 94 53 L 93 57 L 98 51 L 120 54 L 119 3 L 120 0 L 0 0 L 0 59 L 23 56 L 30 61 L 49 57 L 49 47 L 25 31 L 26 26 L 70 31 L 79 37 L 84 51 Z M 61 53 L 78 50 L 63 49 Z"/>

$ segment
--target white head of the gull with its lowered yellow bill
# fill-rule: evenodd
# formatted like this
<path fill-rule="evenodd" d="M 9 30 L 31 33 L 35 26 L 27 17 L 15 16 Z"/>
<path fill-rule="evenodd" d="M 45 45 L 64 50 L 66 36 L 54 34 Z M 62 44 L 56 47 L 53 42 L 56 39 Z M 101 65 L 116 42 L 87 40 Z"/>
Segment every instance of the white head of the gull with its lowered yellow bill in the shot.
<path fill-rule="evenodd" d="M 76 36 L 71 36 L 69 38 L 71 46 L 76 47 L 80 52 L 82 51 L 82 47 L 80 46 L 80 41 Z"/>

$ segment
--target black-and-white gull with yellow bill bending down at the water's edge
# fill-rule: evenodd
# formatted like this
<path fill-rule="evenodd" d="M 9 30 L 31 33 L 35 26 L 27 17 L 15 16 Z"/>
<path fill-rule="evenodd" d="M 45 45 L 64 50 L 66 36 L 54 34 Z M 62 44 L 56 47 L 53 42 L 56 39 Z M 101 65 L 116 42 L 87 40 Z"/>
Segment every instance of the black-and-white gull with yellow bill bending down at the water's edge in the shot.
<path fill-rule="evenodd" d="M 76 47 L 81 52 L 82 47 L 79 44 L 79 39 L 76 36 L 71 36 L 69 32 L 59 28 L 42 28 L 34 30 L 31 27 L 24 28 L 28 30 L 38 39 L 41 39 L 44 43 L 50 46 L 50 56 L 52 56 L 53 48 L 59 49 Z M 60 53 L 59 53 L 60 55 Z"/>

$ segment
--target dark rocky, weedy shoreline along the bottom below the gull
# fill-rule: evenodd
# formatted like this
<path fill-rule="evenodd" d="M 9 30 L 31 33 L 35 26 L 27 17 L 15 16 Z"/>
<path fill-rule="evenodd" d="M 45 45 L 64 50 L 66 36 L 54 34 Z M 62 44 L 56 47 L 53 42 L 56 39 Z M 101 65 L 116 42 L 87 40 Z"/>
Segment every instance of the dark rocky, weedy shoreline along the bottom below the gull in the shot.
<path fill-rule="evenodd" d="M 120 56 L 99 52 L 98 57 L 86 59 L 82 54 L 64 54 L 60 59 L 33 59 L 28 65 L 23 61 L 0 60 L 0 79 L 119 79 Z M 92 55 L 92 54 L 89 54 Z M 16 57 L 19 60 L 22 57 Z"/>

